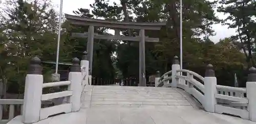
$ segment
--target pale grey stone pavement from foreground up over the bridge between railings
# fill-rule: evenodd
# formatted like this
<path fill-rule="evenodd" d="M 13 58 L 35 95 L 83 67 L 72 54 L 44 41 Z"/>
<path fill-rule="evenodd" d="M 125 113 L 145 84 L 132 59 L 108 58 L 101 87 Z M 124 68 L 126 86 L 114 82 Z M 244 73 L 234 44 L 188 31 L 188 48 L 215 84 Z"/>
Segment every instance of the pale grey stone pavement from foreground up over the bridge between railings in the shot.
<path fill-rule="evenodd" d="M 79 112 L 57 115 L 37 124 L 256 124 L 208 113 L 176 88 L 86 86 L 81 103 Z"/>

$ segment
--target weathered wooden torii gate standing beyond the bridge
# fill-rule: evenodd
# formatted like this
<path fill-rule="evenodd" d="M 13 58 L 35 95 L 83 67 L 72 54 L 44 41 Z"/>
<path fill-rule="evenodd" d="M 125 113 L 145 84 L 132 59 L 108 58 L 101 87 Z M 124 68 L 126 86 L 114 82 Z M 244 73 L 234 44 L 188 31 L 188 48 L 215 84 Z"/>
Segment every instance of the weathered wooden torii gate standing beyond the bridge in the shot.
<path fill-rule="evenodd" d="M 145 37 L 145 30 L 160 30 L 166 22 L 118 22 L 102 19 L 84 18 L 65 14 L 72 24 L 89 26 L 89 32 L 72 33 L 73 37 L 87 38 L 87 52 L 89 55 L 89 69 L 92 71 L 93 64 L 93 41 L 96 39 L 139 41 L 139 86 L 146 86 L 145 79 L 145 41 L 159 42 L 159 38 Z M 108 27 L 115 30 L 115 35 L 98 35 L 94 33 L 94 27 Z M 136 37 L 120 36 L 119 29 L 139 29 L 140 34 Z"/>

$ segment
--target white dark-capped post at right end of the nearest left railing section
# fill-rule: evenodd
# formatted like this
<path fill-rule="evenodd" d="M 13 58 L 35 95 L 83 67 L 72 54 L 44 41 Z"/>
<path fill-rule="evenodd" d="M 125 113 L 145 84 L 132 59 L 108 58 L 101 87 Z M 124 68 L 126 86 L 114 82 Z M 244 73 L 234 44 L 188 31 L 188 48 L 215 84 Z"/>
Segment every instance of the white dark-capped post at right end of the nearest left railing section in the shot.
<path fill-rule="evenodd" d="M 69 90 L 73 91 L 73 94 L 70 96 L 70 103 L 72 104 L 72 112 L 79 111 L 80 109 L 80 96 L 81 96 L 81 83 L 82 83 L 82 73 L 81 67 L 79 65 L 80 60 L 74 58 L 72 60 L 70 72 L 69 72 Z"/>

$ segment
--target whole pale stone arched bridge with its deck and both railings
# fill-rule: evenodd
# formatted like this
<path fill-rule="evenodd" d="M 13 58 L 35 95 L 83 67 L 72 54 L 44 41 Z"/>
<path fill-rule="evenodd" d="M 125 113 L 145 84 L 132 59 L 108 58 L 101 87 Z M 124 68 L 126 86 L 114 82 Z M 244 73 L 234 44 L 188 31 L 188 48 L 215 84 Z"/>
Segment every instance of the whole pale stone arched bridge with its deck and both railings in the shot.
<path fill-rule="evenodd" d="M 156 78 L 158 87 L 92 86 L 88 61 L 72 61 L 69 81 L 42 83 L 40 60 L 32 59 L 26 77 L 24 100 L 10 105 L 9 124 L 256 124 L 256 69 L 250 68 L 247 87 L 217 85 L 208 65 L 205 77 L 180 69 L 175 58 L 172 70 Z M 184 75 L 186 73 L 186 75 Z M 67 91 L 42 94 L 42 88 L 68 85 Z M 68 97 L 67 103 L 41 108 L 41 102 Z M 22 115 L 14 117 L 14 104 Z M 0 106 L 1 110 L 1 106 Z M 1 110 L 2 111 L 2 110 Z M 0 112 L 1 112 L 0 111 Z M 2 119 L 2 115 L 0 116 Z M 13 118 L 14 117 L 14 118 Z"/>

